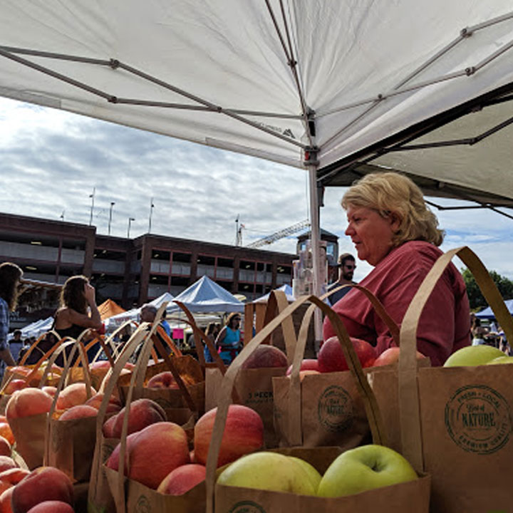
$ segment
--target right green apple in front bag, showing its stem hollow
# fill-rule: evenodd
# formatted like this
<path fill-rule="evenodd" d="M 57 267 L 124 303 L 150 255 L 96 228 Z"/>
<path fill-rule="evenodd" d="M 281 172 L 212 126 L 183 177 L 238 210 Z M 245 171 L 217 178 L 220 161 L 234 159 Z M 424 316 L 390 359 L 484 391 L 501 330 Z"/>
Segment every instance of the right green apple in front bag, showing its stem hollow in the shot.
<path fill-rule="evenodd" d="M 418 479 L 408 460 L 384 445 L 361 445 L 343 452 L 326 470 L 319 497 L 344 497 Z"/>

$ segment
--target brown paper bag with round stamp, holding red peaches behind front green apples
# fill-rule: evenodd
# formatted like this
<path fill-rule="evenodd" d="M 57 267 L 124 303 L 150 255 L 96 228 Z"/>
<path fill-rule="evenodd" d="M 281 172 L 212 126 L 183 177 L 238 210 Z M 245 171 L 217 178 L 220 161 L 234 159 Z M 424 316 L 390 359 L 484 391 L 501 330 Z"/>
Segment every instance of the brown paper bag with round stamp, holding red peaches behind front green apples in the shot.
<path fill-rule="evenodd" d="M 380 301 L 365 287 L 354 287 L 366 294 L 398 341 L 399 328 Z M 315 309 L 315 304 L 310 306 L 301 323 L 291 376 L 273 378 L 274 423 L 279 444 L 281 447 L 336 445 L 351 449 L 370 436 L 365 406 L 353 373 L 306 375 L 302 382 L 299 380 L 299 367 Z M 367 373 L 368 369 L 363 372 Z"/>

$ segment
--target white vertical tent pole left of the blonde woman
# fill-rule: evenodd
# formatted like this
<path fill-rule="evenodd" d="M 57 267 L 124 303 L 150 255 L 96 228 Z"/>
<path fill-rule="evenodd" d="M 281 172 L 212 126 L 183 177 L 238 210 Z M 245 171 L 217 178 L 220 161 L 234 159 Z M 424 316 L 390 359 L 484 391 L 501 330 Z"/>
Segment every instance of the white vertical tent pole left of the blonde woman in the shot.
<path fill-rule="evenodd" d="M 310 195 L 310 239 L 312 252 L 312 265 L 314 266 L 314 294 L 321 296 L 321 231 L 319 228 L 319 204 L 317 194 L 317 152 L 310 149 L 305 151 L 305 164 L 309 172 L 309 195 Z M 321 310 L 316 309 L 314 313 L 315 328 L 315 351 L 318 349 L 322 341 L 322 316 Z"/>

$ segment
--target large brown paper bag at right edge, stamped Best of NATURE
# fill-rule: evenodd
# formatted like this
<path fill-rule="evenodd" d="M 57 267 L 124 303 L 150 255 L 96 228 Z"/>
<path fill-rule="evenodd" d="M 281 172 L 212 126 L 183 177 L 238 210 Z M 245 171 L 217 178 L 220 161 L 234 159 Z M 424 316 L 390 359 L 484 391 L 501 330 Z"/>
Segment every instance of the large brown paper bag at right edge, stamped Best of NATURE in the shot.
<path fill-rule="evenodd" d="M 467 247 L 440 256 L 415 294 L 400 331 L 398 375 L 403 454 L 432 475 L 432 511 L 512 511 L 512 368 L 508 365 L 416 368 L 416 332 L 423 307 L 457 255 L 472 271 L 500 325 L 513 340 L 513 319 L 482 262 Z M 388 384 L 386 378 L 389 378 Z M 376 380 L 375 386 L 378 386 Z M 383 409 L 388 405 L 382 400 Z"/>

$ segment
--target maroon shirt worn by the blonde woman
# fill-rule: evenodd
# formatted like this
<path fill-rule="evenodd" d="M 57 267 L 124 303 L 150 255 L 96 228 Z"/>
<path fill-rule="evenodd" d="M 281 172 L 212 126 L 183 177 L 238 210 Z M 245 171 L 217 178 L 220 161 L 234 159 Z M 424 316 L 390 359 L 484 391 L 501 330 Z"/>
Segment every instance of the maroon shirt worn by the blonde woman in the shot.
<path fill-rule="evenodd" d="M 429 242 L 405 242 L 380 261 L 360 285 L 375 294 L 400 326 L 413 296 L 441 254 L 440 249 Z M 387 326 L 361 291 L 351 290 L 333 306 L 333 310 L 340 316 L 349 336 L 370 342 L 378 354 L 395 346 Z M 326 318 L 324 340 L 334 334 Z M 420 316 L 417 348 L 430 357 L 433 366 L 441 366 L 451 353 L 469 345 L 467 291 L 460 272 L 451 263 L 437 281 Z"/>

